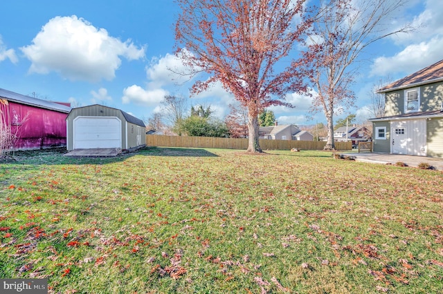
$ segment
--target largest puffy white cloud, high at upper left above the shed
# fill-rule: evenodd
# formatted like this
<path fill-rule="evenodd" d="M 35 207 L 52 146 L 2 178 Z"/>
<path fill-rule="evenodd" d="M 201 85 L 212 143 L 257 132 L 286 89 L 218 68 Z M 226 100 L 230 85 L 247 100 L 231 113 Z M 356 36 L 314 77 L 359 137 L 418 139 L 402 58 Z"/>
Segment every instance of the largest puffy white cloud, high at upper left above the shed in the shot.
<path fill-rule="evenodd" d="M 144 47 L 111 37 L 107 30 L 75 15 L 48 21 L 33 44 L 21 51 L 32 62 L 29 72 L 58 72 L 73 81 L 111 80 L 120 67 L 120 57 L 133 60 L 145 56 Z"/>

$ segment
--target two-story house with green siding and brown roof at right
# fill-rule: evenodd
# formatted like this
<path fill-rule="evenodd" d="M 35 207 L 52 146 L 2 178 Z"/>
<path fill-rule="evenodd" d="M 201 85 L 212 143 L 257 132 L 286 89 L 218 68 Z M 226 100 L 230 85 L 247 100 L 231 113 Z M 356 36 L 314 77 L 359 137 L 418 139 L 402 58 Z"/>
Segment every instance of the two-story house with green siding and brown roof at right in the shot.
<path fill-rule="evenodd" d="M 377 92 L 385 114 L 370 119 L 374 152 L 443 157 L 443 60 Z"/>

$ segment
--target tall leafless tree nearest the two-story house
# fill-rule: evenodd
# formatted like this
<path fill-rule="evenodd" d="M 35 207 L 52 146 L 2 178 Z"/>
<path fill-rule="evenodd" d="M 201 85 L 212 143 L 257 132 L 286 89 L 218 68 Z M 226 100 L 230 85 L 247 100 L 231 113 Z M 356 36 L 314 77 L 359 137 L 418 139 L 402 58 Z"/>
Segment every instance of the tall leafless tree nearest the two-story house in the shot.
<path fill-rule="evenodd" d="M 387 22 L 408 0 L 319 0 L 321 13 L 308 41 L 316 88 L 312 110 L 323 110 L 327 119 L 325 150 L 334 150 L 334 112 L 354 105 L 351 85 L 359 68 L 356 61 L 370 44 L 400 32 L 411 32 L 408 24 L 397 29 Z"/>

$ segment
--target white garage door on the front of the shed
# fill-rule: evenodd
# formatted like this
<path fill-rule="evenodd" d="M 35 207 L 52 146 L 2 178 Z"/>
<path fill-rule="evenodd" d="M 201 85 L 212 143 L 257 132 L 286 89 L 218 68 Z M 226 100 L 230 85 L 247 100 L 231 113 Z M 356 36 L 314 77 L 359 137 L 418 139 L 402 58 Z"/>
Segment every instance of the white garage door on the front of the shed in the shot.
<path fill-rule="evenodd" d="M 122 148 L 117 117 L 77 117 L 73 124 L 74 149 Z"/>

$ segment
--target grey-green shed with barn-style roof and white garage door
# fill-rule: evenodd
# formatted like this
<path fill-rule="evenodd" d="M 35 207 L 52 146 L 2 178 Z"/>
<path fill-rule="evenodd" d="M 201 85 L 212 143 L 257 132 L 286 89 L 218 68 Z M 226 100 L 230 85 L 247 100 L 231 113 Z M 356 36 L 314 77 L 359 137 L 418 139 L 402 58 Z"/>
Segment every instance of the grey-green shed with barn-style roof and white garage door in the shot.
<path fill-rule="evenodd" d="M 145 145 L 145 124 L 123 110 L 102 105 L 73 108 L 66 117 L 67 150 Z"/>

